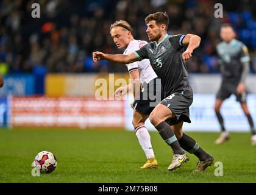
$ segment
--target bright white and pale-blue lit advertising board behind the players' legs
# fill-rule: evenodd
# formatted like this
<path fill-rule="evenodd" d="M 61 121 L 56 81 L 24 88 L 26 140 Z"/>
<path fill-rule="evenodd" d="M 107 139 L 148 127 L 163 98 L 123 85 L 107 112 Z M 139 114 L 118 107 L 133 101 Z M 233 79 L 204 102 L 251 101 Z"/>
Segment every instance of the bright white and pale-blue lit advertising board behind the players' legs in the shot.
<path fill-rule="evenodd" d="M 134 130 L 132 123 L 132 108 L 130 108 L 130 102 L 126 102 L 126 129 Z M 190 119 L 191 123 L 187 122 L 183 125 L 184 131 L 213 131 L 219 132 L 218 119 L 215 116 L 214 111 L 215 94 L 194 94 L 193 104 L 190 107 Z M 256 121 L 256 95 L 249 94 L 247 97 L 247 103 L 251 116 Z M 246 116 L 240 108 L 240 104 L 236 102 L 235 96 L 231 96 L 229 99 L 224 101 L 223 107 L 221 108 L 226 129 L 237 132 L 249 132 L 249 124 Z M 148 130 L 155 130 L 149 119 L 146 121 Z"/>

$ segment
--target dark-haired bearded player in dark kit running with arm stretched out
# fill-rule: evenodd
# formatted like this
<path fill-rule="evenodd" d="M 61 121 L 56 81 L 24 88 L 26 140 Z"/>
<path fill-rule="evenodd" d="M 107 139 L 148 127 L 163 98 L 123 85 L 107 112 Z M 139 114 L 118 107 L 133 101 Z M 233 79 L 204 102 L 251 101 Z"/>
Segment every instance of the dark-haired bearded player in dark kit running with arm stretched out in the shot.
<path fill-rule="evenodd" d="M 93 52 L 93 60 L 127 64 L 149 59 L 152 68 L 161 79 L 165 98 L 154 108 L 149 119 L 163 140 L 172 148 L 174 155 L 168 170 L 179 168 L 182 163 L 188 161 L 188 155 L 182 150 L 183 148 L 199 158 L 195 171 L 202 172 L 213 164 L 213 157 L 207 154 L 193 138 L 182 132 L 183 122 L 191 122 L 189 107 L 193 102 L 193 91 L 188 83 L 184 62 L 190 59 L 193 50 L 199 46 L 201 38 L 192 34 L 168 35 L 169 18 L 163 12 L 150 14 L 145 21 L 151 43 L 129 55 Z M 184 51 L 185 46 L 187 46 L 186 51 Z"/>

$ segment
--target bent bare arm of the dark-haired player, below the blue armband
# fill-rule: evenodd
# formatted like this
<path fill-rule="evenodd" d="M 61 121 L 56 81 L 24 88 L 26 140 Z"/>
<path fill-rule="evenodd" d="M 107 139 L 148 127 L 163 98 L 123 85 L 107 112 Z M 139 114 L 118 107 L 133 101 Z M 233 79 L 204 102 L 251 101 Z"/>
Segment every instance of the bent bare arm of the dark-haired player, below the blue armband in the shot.
<path fill-rule="evenodd" d="M 201 42 L 201 38 L 197 35 L 187 34 L 183 39 L 183 45 L 188 46 L 185 52 L 182 54 L 184 62 L 192 57 L 193 50 L 198 48 Z"/>

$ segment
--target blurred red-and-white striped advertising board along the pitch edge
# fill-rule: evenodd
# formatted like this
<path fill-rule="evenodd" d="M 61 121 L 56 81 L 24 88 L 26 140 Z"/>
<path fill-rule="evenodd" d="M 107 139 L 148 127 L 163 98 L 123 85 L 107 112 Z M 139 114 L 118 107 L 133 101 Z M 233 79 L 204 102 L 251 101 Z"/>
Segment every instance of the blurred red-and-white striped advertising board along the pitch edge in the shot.
<path fill-rule="evenodd" d="M 13 97 L 11 105 L 12 126 L 124 127 L 124 101 Z"/>

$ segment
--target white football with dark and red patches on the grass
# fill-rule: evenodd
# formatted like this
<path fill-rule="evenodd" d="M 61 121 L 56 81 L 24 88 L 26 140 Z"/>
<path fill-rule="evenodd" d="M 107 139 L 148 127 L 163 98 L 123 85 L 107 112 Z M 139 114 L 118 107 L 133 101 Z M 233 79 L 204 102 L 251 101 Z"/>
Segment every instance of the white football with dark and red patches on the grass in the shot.
<path fill-rule="evenodd" d="M 41 151 L 34 159 L 34 166 L 40 172 L 52 172 L 57 166 L 57 159 L 51 152 Z"/>

